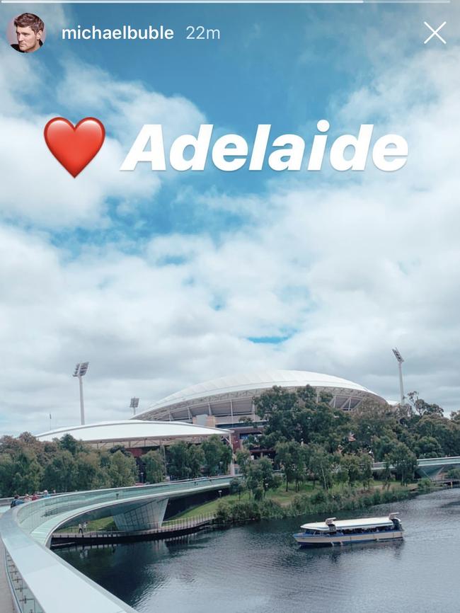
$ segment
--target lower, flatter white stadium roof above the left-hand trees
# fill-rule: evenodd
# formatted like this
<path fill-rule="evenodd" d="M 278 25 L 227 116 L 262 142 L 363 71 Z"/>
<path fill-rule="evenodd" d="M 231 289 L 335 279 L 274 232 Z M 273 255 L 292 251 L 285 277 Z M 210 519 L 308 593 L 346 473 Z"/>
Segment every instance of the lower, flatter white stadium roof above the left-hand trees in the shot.
<path fill-rule="evenodd" d="M 145 421 L 122 420 L 74 425 L 69 428 L 58 428 L 37 435 L 38 440 L 52 441 L 71 435 L 77 440 L 97 444 L 100 447 L 113 447 L 120 443 L 125 447 L 151 447 L 174 440 L 198 442 L 206 437 L 217 434 L 228 436 L 229 430 L 222 428 L 205 428 L 204 426 L 180 421 Z"/>

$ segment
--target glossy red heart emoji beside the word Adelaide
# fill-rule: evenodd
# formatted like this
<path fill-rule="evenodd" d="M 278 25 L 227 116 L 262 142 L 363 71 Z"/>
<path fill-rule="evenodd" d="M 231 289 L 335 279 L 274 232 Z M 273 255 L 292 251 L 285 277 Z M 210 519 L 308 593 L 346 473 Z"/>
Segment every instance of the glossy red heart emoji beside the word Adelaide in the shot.
<path fill-rule="evenodd" d="M 48 149 L 75 178 L 102 147 L 105 128 L 93 117 L 82 119 L 75 127 L 63 117 L 55 117 L 45 125 L 44 134 Z"/>

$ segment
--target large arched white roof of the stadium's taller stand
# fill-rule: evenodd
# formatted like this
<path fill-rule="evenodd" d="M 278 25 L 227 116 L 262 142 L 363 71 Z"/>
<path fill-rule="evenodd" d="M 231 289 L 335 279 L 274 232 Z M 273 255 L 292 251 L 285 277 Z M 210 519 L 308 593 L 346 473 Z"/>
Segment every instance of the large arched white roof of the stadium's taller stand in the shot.
<path fill-rule="evenodd" d="M 205 406 L 209 404 L 210 413 L 212 404 L 224 399 L 230 401 L 242 399 L 243 397 L 250 398 L 261 394 L 266 389 L 273 386 L 284 388 L 298 388 L 310 385 L 318 391 L 330 391 L 334 397 L 340 397 L 340 406 L 350 399 L 354 398 L 361 401 L 365 396 L 373 396 L 374 399 L 383 401 L 380 396 L 363 387 L 360 384 L 341 377 L 333 377 L 330 374 L 321 374 L 319 372 L 308 372 L 305 370 L 265 370 L 262 372 L 248 372 L 243 374 L 235 374 L 230 377 L 220 377 L 212 379 L 205 383 L 186 387 L 175 394 L 166 396 L 159 401 L 156 401 L 146 411 L 139 413 L 136 417 L 149 419 L 150 417 L 165 418 L 171 413 L 171 418 L 174 418 L 173 413 L 180 408 L 192 407 L 197 408 L 199 405 Z M 352 408 L 352 406 L 350 406 Z M 195 414 L 197 411 L 195 411 Z M 193 411 L 192 411 L 192 414 Z M 187 419 L 184 411 L 181 411 L 176 418 Z"/>

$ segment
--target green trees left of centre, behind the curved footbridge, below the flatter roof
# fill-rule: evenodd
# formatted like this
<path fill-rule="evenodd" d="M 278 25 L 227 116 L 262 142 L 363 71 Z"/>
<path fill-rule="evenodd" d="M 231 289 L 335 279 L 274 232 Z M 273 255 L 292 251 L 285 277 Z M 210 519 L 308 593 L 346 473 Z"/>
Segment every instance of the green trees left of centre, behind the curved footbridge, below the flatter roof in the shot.
<path fill-rule="evenodd" d="M 183 441 L 167 449 L 152 449 L 135 459 L 115 445 L 100 450 L 64 435 L 41 442 L 29 432 L 0 438 L 0 497 L 16 493 L 69 492 L 133 486 L 138 481 L 159 483 L 172 479 L 195 479 L 226 473 L 231 449 L 218 435 L 201 445 Z"/>

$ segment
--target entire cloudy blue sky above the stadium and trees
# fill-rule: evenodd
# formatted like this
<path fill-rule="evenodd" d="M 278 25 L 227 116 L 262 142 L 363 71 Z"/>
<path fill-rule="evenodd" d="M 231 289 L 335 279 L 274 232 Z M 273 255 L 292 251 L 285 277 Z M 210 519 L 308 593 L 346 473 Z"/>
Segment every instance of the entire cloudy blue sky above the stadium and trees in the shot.
<path fill-rule="evenodd" d="M 133 395 L 144 409 L 188 384 L 275 367 L 393 399 L 393 345 L 407 356 L 408 389 L 458 408 L 454 7 L 38 7 L 21 11 L 47 24 L 40 52 L 0 45 L 6 432 L 44 430 L 50 412 L 53 425 L 74 423 L 79 360 L 90 360 L 93 420 L 127 416 Z M 15 13 L 0 6 L 1 28 Z M 424 46 L 423 21 L 444 19 L 449 45 Z M 77 24 L 149 23 L 175 40 L 59 40 Z M 219 28 L 221 40 L 187 41 L 188 24 Z M 93 115 L 107 130 L 75 180 L 42 139 L 56 115 Z M 322 118 L 331 137 L 366 122 L 376 135 L 402 134 L 408 164 L 118 171 L 144 123 L 162 123 L 171 139 L 209 122 L 248 142 L 270 123 L 308 147 Z"/>

